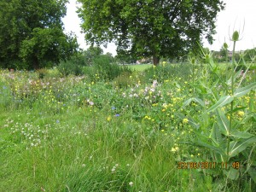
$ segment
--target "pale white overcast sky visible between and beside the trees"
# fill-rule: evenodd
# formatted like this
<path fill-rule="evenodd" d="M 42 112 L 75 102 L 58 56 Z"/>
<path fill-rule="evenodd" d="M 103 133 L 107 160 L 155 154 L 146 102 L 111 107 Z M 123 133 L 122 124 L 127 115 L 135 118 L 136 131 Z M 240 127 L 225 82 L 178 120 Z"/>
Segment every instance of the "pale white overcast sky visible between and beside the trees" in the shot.
<path fill-rule="evenodd" d="M 234 31 L 240 32 L 240 41 L 236 43 L 236 50 L 253 49 L 256 47 L 256 0 L 224 0 L 225 9 L 217 16 L 215 41 L 212 45 L 203 40 L 204 47 L 210 50 L 221 49 L 224 42 L 232 49 L 230 37 Z M 74 32 L 77 35 L 80 48 L 87 49 L 90 45 L 85 44 L 84 34 L 81 32 L 76 0 L 69 0 L 67 4 L 67 15 L 63 18 L 66 32 Z M 104 53 L 116 55 L 114 44 L 108 44 Z"/>

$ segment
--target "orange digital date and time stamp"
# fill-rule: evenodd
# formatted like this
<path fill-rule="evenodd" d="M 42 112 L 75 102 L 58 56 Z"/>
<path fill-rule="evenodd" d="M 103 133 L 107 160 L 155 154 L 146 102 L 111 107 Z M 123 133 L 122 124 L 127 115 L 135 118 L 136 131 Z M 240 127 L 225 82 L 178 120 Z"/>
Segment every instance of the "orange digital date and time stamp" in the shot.
<path fill-rule="evenodd" d="M 177 169 L 228 169 L 232 167 L 234 169 L 239 169 L 239 162 L 211 162 L 211 161 L 201 161 L 201 162 L 177 162 Z"/>

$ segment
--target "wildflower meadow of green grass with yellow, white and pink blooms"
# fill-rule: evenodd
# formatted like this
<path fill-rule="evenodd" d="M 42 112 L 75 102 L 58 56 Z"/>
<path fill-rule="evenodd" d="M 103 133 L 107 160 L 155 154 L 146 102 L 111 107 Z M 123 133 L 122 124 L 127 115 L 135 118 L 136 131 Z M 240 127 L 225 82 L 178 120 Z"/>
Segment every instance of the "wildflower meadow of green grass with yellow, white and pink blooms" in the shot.
<path fill-rule="evenodd" d="M 255 191 L 255 70 L 211 65 L 0 71 L 0 191 Z"/>

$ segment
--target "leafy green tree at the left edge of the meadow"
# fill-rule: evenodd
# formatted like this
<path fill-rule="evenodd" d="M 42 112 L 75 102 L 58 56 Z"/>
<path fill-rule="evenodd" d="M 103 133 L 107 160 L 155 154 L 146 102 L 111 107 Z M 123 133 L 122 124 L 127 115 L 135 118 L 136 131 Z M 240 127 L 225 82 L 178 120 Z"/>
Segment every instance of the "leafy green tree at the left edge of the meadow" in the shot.
<path fill-rule="evenodd" d="M 78 48 L 63 32 L 67 0 L 1 0 L 0 65 L 39 68 L 66 60 Z"/>

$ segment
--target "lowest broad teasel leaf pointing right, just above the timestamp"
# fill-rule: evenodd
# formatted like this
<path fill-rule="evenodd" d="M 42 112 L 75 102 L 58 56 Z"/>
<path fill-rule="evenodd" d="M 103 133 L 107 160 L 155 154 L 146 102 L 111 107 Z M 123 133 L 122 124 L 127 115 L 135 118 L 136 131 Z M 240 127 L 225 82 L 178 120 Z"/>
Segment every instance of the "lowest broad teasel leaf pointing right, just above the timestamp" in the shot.
<path fill-rule="evenodd" d="M 241 151 L 245 150 L 252 143 L 256 143 L 256 136 L 244 139 L 241 142 L 230 142 L 230 158 L 236 156 L 236 154 L 241 153 Z"/>

